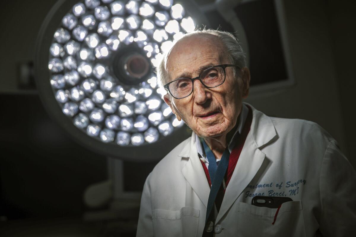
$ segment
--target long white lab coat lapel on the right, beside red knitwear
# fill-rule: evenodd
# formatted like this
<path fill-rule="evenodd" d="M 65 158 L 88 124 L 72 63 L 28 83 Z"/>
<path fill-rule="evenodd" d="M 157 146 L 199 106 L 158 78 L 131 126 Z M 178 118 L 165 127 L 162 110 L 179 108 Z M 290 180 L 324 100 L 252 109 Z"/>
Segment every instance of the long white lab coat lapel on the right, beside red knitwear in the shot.
<path fill-rule="evenodd" d="M 251 105 L 248 104 L 248 106 L 252 109 L 253 115 L 251 129 L 247 135 L 235 170 L 232 173 L 229 185 L 227 185 L 216 223 L 230 209 L 261 168 L 266 156 L 260 150 L 261 147 L 268 145 L 271 140 L 277 138 L 271 118 L 257 111 Z"/>

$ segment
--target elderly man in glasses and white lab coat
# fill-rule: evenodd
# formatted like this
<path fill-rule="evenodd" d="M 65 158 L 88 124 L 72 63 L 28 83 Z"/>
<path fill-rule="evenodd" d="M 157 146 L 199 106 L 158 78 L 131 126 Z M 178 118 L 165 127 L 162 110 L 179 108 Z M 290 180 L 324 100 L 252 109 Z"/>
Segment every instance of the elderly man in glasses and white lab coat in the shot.
<path fill-rule="evenodd" d="M 355 170 L 317 124 L 242 103 L 250 72 L 230 33 L 186 34 L 158 79 L 193 133 L 147 177 L 137 236 L 354 236 Z"/>

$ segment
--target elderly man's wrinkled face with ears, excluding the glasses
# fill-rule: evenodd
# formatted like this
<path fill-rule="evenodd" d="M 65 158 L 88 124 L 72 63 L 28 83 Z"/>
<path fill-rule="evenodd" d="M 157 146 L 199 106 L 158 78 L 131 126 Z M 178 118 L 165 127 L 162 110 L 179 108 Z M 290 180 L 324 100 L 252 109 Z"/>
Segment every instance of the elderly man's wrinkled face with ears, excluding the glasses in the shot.
<path fill-rule="evenodd" d="M 196 77 L 205 66 L 229 64 L 224 55 L 226 53 L 216 36 L 200 34 L 185 38 L 168 55 L 169 81 L 183 76 Z M 206 88 L 199 80 L 195 80 L 190 96 L 176 99 L 167 94 L 164 101 L 178 120 L 183 119 L 198 136 L 216 138 L 226 135 L 236 125 L 242 98 L 248 95 L 250 75 L 247 68 L 244 71 L 247 72 L 242 72 L 242 78 L 246 80 L 238 76 L 235 78 L 233 67 L 227 67 L 222 85 Z"/>

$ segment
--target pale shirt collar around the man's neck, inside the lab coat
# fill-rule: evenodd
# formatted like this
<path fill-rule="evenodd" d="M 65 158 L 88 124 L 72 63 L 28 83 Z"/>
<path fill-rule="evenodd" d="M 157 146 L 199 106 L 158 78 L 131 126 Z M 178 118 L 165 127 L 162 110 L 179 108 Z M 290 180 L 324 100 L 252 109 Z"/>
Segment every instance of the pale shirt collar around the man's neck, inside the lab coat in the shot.
<path fill-rule="evenodd" d="M 238 121 L 239 125 L 237 126 L 236 131 L 229 142 L 229 145 L 227 145 L 227 149 L 229 149 L 230 153 L 232 149 L 234 149 L 235 147 L 237 132 L 239 132 L 239 134 L 242 133 L 242 129 L 244 128 L 247 114 L 248 114 L 248 108 L 244 103 L 242 103 L 241 113 Z M 197 144 L 197 151 L 198 151 L 199 158 L 203 159 L 204 162 L 209 163 L 208 159 L 205 157 L 203 146 L 201 146 L 201 143 L 199 142 L 199 136 L 197 134 L 195 134 L 195 144 Z M 216 159 L 216 160 L 218 161 L 220 159 Z"/>

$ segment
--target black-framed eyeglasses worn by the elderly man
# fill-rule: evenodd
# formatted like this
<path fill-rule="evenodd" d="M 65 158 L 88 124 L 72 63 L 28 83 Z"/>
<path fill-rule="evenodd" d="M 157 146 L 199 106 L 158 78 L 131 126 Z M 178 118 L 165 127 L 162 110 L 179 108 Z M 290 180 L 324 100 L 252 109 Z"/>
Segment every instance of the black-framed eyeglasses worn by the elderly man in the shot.
<path fill-rule="evenodd" d="M 190 78 L 182 77 L 174 81 L 168 82 L 164 85 L 164 89 L 167 90 L 174 98 L 182 99 L 187 96 L 190 96 L 193 92 L 193 84 L 195 80 L 199 80 L 207 88 L 214 88 L 220 86 L 224 83 L 226 73 L 225 68 L 227 67 L 238 67 L 234 64 L 222 64 L 213 66 L 211 68 L 205 69 L 202 71 L 199 76 Z"/>

